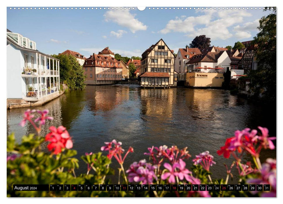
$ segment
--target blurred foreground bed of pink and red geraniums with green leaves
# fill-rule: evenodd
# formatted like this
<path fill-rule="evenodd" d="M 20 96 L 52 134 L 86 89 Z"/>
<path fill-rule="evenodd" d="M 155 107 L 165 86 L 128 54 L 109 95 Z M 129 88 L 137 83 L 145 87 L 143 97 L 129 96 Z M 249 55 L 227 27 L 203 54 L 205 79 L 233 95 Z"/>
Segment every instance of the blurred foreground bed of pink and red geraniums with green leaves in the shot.
<path fill-rule="evenodd" d="M 133 154 L 134 150 L 129 147 L 125 152 L 122 143 L 115 139 L 101 147 L 102 152 L 107 152 L 106 156 L 102 152 L 81 156 L 87 172 L 76 175 L 79 160 L 74 157 L 77 152 L 72 150 L 73 140 L 66 128 L 51 126 L 50 133 L 40 136 L 45 120 L 53 119 L 47 115 L 48 110 L 27 110 L 20 125 L 29 122 L 34 126 L 36 135 L 23 136 L 21 144 L 15 142 L 13 133 L 8 136 L 8 197 L 276 197 L 276 160 L 269 158 L 261 164 L 259 159 L 262 149 L 275 148 L 272 140 L 276 138 L 269 137 L 266 128 L 258 127 L 261 133 L 248 128 L 237 130 L 220 147 L 218 155 L 234 158 L 231 166 L 226 166 L 226 180 L 211 179 L 210 166 L 215 165 L 215 161 L 208 151 L 196 155 L 192 159 L 194 164 L 187 166 L 186 161 L 191 158 L 187 147 L 152 146 L 144 153 L 149 157 L 148 161 L 143 159 L 124 167 L 127 155 Z M 48 152 L 43 151 L 45 143 Z M 249 156 L 251 161 L 241 163 L 244 155 Z M 270 191 L 13 191 L 13 184 L 112 184 L 109 175 L 115 172 L 111 168 L 115 160 L 120 165 L 118 184 L 227 184 L 235 166 L 239 184 L 270 184 Z"/>

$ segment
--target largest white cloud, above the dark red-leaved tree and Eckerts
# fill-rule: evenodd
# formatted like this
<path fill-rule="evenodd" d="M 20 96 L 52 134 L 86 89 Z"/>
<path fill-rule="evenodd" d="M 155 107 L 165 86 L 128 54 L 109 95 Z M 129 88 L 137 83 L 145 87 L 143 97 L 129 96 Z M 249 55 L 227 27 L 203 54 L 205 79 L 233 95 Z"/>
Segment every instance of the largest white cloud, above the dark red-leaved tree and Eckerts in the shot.
<path fill-rule="evenodd" d="M 175 17 L 174 20 L 168 21 L 165 28 L 159 32 L 162 34 L 170 32 L 186 33 L 185 36 L 194 38 L 199 35 L 206 35 L 212 40 L 221 39 L 226 40 L 233 36 L 231 33 L 231 26 L 241 23 L 244 17 L 250 17 L 251 14 L 243 10 L 223 10 L 215 12 L 213 10 L 196 11 L 196 13 L 204 13 L 199 16 L 180 16 Z M 244 24 L 244 27 L 252 26 L 253 24 Z M 243 33 L 239 36 L 244 36 Z M 246 35 L 247 36 L 247 35 Z"/>

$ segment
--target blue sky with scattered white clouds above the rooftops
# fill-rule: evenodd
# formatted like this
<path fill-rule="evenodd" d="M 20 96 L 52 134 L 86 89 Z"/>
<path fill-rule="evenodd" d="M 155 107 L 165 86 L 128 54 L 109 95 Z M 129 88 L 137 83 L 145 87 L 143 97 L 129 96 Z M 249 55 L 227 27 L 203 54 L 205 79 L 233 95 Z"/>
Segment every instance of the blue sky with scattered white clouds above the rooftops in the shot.
<path fill-rule="evenodd" d="M 38 7 L 37 7 L 38 8 Z M 103 7 L 102 7 L 103 8 Z M 36 42 L 46 54 L 73 50 L 89 57 L 109 47 L 122 56 L 141 56 L 162 38 L 177 53 L 195 36 L 206 35 L 211 45 L 226 47 L 236 41 L 251 40 L 257 33 L 258 20 L 270 12 L 255 10 L 171 10 L 148 7 L 139 11 L 12 9 L 7 7 L 7 28 Z M 181 8 L 181 7 L 180 7 Z M 234 7 L 233 7 L 234 8 Z M 247 7 L 245 7 L 247 8 Z"/>

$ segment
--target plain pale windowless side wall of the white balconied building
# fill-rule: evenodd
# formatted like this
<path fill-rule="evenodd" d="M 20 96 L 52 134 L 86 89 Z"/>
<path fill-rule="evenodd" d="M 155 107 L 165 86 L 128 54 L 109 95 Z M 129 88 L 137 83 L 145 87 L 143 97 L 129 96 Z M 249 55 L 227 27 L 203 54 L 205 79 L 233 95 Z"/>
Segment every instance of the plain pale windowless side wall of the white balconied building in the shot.
<path fill-rule="evenodd" d="M 13 45 L 7 45 L 7 99 L 22 98 L 22 53 Z"/>

